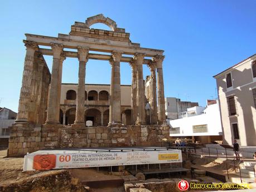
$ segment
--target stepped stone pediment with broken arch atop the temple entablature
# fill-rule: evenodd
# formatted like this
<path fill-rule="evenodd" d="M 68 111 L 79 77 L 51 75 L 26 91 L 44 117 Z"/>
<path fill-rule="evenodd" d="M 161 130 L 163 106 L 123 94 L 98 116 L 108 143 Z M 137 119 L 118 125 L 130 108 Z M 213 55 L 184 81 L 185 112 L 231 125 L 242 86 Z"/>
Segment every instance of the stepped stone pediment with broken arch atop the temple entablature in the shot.
<path fill-rule="evenodd" d="M 104 29 L 90 28 L 90 26 L 95 23 L 106 24 L 112 30 L 108 31 Z M 69 35 L 131 42 L 129 40 L 130 33 L 125 33 L 124 28 L 118 28 L 115 21 L 108 17 L 104 17 L 103 14 L 97 14 L 96 16 L 88 17 L 84 23 L 75 22 L 75 24 L 71 26 Z"/>

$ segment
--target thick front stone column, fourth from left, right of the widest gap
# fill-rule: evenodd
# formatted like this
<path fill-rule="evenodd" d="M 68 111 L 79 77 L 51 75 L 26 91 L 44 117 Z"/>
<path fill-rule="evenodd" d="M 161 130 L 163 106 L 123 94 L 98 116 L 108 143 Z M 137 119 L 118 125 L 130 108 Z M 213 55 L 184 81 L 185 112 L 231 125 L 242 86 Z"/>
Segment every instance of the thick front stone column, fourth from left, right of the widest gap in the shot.
<path fill-rule="evenodd" d="M 120 86 L 120 58 L 121 52 L 112 52 L 110 65 L 112 66 L 110 85 L 110 106 L 109 106 L 109 126 L 121 124 L 121 86 Z"/>

